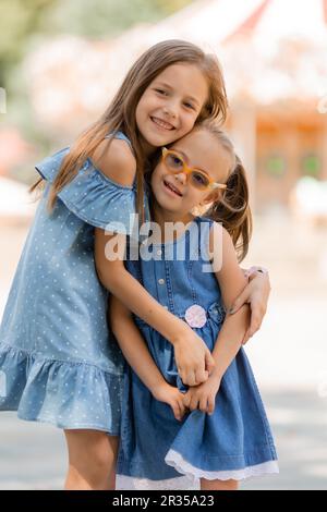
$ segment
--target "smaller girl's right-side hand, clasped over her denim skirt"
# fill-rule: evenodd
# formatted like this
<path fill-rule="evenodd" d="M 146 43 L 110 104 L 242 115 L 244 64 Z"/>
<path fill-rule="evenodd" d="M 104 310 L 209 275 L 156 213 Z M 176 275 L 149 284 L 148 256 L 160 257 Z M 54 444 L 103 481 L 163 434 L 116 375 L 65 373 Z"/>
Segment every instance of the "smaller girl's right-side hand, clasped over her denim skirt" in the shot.
<path fill-rule="evenodd" d="M 206 382 L 190 388 L 183 397 L 184 406 L 190 411 L 198 409 L 203 413 L 213 414 L 219 387 L 220 380 L 211 376 Z"/>

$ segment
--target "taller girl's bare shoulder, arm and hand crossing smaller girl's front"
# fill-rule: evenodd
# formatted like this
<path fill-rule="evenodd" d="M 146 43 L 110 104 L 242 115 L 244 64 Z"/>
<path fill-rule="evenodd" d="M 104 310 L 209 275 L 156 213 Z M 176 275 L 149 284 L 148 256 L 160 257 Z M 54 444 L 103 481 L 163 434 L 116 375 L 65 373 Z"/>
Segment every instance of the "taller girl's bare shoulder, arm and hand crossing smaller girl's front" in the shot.
<path fill-rule="evenodd" d="M 133 183 L 136 161 L 125 141 L 102 141 L 93 154 L 93 161 L 110 180 L 124 186 Z M 95 230 L 95 260 L 99 280 L 131 312 L 173 344 L 179 374 L 185 385 L 195 386 L 205 381 L 214 367 L 214 359 L 207 346 L 186 322 L 165 309 L 125 270 L 123 254 L 114 261 L 107 259 L 106 245 L 110 239 L 112 242 L 113 236 L 108 233 L 106 235 L 104 230 Z M 124 236 L 117 235 L 117 240 L 122 241 L 124 247 Z"/>

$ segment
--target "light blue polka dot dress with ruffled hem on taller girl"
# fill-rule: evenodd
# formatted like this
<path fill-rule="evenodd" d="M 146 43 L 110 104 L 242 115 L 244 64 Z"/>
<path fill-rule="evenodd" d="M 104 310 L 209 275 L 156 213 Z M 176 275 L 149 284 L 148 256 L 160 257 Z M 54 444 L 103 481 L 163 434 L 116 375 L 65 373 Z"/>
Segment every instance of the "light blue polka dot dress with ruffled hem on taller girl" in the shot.
<path fill-rule="evenodd" d="M 129 233 L 135 186 L 109 180 L 87 159 L 49 214 L 49 188 L 68 151 L 36 166 L 46 188 L 0 328 L 0 410 L 118 435 L 123 357 L 108 330 L 94 227 Z"/>

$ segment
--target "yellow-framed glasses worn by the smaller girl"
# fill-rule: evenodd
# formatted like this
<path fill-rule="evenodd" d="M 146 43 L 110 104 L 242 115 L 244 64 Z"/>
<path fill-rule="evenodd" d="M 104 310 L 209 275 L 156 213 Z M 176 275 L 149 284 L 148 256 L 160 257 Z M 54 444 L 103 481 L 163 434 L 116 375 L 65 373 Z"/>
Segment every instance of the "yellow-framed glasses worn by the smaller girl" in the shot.
<path fill-rule="evenodd" d="M 183 157 L 172 149 L 167 149 L 162 147 L 162 161 L 169 172 L 179 174 L 183 172 L 186 174 L 190 180 L 191 185 L 199 191 L 205 191 L 207 188 L 226 188 L 226 185 L 222 183 L 216 183 L 210 176 L 199 169 L 194 169 L 189 167 Z"/>

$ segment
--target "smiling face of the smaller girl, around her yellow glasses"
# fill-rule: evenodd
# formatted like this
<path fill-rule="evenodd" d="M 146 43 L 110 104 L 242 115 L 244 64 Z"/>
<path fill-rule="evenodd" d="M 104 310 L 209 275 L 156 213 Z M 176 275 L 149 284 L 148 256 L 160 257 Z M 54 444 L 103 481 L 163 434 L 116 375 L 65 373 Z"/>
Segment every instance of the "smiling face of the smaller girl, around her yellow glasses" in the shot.
<path fill-rule="evenodd" d="M 231 156 L 208 131 L 194 129 L 169 149 L 178 151 L 189 167 L 204 171 L 216 183 L 227 182 L 232 166 Z M 213 190 L 194 187 L 183 172 L 172 174 L 162 159 L 152 174 L 152 190 L 159 208 L 174 214 L 177 219 L 182 219 L 194 207 L 205 205 L 219 195 Z"/>

